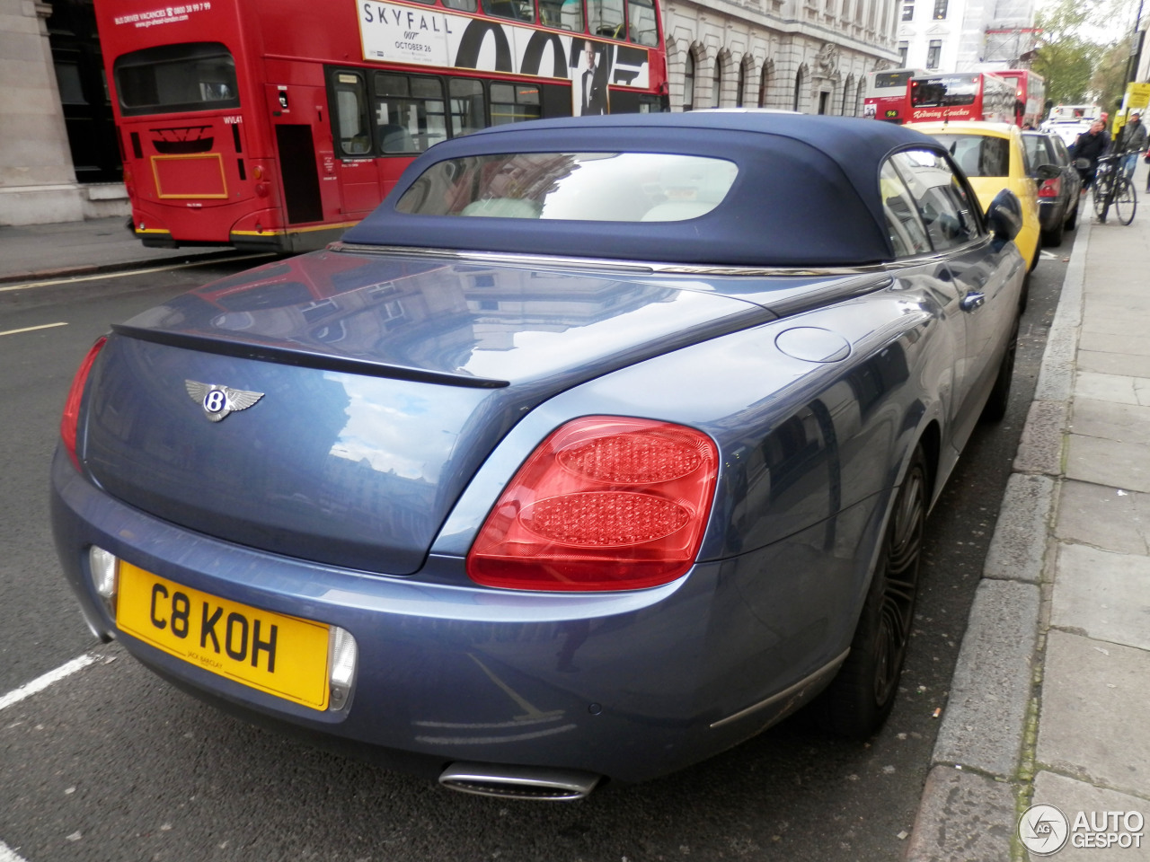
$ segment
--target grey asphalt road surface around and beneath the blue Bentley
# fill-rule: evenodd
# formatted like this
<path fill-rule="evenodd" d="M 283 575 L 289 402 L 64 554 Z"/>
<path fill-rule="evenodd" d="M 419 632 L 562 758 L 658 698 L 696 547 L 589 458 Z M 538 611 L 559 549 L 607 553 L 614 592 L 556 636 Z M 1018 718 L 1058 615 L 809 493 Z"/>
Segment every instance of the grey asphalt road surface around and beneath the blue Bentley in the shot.
<path fill-rule="evenodd" d="M 903 690 L 883 731 L 845 742 L 799 714 L 706 763 L 577 803 L 450 793 L 305 748 L 97 645 L 47 519 L 71 375 L 109 322 L 233 270 L 126 275 L 93 285 L 101 298 L 0 306 L 0 862 L 899 859 L 1072 241 L 1033 276 L 1006 420 L 975 432 L 931 515 Z M 16 699 L 78 656 L 92 661 Z"/>

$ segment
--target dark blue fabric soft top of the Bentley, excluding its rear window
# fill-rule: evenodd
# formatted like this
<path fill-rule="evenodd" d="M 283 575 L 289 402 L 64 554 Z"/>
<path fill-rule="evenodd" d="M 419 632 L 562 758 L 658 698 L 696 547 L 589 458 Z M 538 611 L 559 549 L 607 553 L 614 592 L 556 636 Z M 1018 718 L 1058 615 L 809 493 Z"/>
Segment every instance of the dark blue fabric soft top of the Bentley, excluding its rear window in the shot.
<path fill-rule="evenodd" d="M 879 171 L 892 152 L 945 152 L 874 120 L 769 111 L 614 114 L 485 129 L 431 147 L 391 194 L 344 234 L 363 245 L 558 254 L 749 267 L 860 265 L 894 259 Z M 430 164 L 480 154 L 651 152 L 738 164 L 727 198 L 682 222 L 466 218 L 397 213 Z"/>

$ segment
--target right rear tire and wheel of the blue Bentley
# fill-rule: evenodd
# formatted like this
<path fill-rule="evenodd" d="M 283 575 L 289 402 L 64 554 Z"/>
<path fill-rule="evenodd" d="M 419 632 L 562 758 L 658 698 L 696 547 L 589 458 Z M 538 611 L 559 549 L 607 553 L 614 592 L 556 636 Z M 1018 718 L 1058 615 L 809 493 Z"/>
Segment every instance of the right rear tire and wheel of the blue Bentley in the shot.
<path fill-rule="evenodd" d="M 928 505 L 927 461 L 918 446 L 883 530 L 850 653 L 811 705 L 814 721 L 825 731 L 868 739 L 895 706 L 914 622 Z"/>

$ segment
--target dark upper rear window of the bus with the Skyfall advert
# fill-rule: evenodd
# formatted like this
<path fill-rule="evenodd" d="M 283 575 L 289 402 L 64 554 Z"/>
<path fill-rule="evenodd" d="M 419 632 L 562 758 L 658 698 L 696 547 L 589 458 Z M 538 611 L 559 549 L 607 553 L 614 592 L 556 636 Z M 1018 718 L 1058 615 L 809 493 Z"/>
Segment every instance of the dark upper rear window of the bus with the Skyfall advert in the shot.
<path fill-rule="evenodd" d="M 236 61 L 220 43 L 135 51 L 117 57 L 113 71 L 129 116 L 239 107 Z"/>

